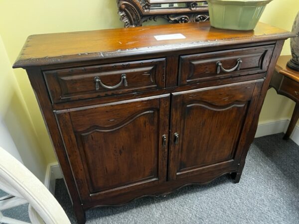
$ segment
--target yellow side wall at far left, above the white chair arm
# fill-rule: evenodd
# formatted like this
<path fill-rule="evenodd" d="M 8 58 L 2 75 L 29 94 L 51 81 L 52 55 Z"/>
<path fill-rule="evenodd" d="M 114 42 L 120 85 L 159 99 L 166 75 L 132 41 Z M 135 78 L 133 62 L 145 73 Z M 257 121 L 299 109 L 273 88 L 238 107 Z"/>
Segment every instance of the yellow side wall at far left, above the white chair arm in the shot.
<path fill-rule="evenodd" d="M 1 142 L 6 151 L 15 148 L 24 165 L 44 181 L 46 160 L 41 152 L 31 117 L 11 69 L 0 36 L 0 125 Z M 7 132 L 7 133 L 4 133 Z M 4 142 L 5 141 L 5 142 Z M 9 143 L 12 141 L 13 143 Z M 5 147 L 6 146 L 6 147 Z M 9 147 L 9 148 L 8 148 Z"/>

